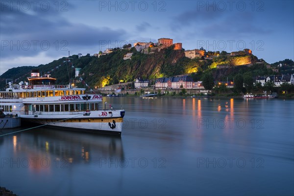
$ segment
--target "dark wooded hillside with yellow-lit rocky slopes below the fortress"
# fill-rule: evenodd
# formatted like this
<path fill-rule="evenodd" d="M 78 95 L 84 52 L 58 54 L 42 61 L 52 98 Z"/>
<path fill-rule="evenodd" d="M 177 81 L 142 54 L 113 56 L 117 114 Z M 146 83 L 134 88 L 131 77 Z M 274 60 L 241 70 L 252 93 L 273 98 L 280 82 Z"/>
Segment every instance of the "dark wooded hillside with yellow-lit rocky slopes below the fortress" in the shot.
<path fill-rule="evenodd" d="M 125 54 L 133 52 L 131 59 L 123 60 Z M 74 68 L 81 68 L 80 75 L 91 88 L 107 86 L 110 84 L 133 81 L 135 78 L 154 79 L 164 76 L 173 76 L 186 73 L 199 73 L 210 71 L 215 80 L 224 80 L 226 77 L 234 76 L 236 73 L 250 73 L 252 76 L 271 73 L 265 64 L 256 64 L 250 68 L 238 66 L 243 64 L 254 64 L 258 58 L 250 56 L 220 55 L 213 59 L 204 60 L 185 57 L 184 50 L 174 50 L 172 47 L 161 49 L 154 53 L 146 54 L 136 51 L 134 48 L 117 49 L 99 58 L 87 54 L 78 58 L 77 55 L 54 60 L 46 65 L 37 67 L 25 66 L 12 68 L 0 76 L 1 90 L 4 90 L 5 79 L 14 79 L 17 83 L 27 80 L 31 69 L 39 69 L 42 75 L 51 74 L 57 78 L 58 84 L 68 84 L 69 78 L 74 78 Z M 72 64 L 73 63 L 73 64 Z M 214 69 L 219 64 L 232 66 L 228 69 Z M 76 78 L 78 87 L 84 87 L 84 83 Z"/>

